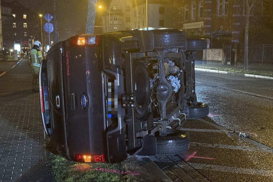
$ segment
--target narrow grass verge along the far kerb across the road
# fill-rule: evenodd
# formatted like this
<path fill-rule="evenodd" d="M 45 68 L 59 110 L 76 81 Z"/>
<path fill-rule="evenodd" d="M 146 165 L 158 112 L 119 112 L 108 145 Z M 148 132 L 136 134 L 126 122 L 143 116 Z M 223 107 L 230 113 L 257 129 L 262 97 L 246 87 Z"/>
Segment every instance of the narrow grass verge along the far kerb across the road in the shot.
<path fill-rule="evenodd" d="M 255 70 L 244 70 L 244 69 L 237 69 L 237 68 L 226 68 L 226 67 L 212 67 L 212 66 L 199 66 L 195 65 L 196 68 L 201 69 L 213 69 L 218 71 L 229 71 L 233 73 L 245 73 L 245 74 L 251 74 L 251 75 L 261 75 L 261 76 L 269 76 L 273 77 L 272 71 L 255 71 Z"/>

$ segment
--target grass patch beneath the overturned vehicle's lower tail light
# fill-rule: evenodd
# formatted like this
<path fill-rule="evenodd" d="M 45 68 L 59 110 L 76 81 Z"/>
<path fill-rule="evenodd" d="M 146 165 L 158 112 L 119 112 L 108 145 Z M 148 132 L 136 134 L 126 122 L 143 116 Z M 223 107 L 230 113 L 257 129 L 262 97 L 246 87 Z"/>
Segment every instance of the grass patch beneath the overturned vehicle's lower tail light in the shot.
<path fill-rule="evenodd" d="M 134 174 L 129 171 L 123 162 L 119 164 L 109 163 L 80 163 L 68 161 L 64 157 L 50 154 L 49 165 L 51 174 L 56 182 L 85 182 L 85 181 L 135 181 Z"/>

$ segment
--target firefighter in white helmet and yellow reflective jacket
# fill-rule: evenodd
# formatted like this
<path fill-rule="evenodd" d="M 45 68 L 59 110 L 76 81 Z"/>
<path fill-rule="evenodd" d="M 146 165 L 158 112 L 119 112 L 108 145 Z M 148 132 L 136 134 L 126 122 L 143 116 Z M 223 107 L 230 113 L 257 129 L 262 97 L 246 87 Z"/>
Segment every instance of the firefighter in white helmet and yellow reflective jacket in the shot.
<path fill-rule="evenodd" d="M 40 64 L 43 60 L 42 51 L 40 51 L 41 42 L 38 40 L 34 41 L 33 47 L 29 52 L 29 59 L 28 62 L 31 64 L 32 67 L 32 91 L 39 91 L 39 71 L 40 71 Z"/>

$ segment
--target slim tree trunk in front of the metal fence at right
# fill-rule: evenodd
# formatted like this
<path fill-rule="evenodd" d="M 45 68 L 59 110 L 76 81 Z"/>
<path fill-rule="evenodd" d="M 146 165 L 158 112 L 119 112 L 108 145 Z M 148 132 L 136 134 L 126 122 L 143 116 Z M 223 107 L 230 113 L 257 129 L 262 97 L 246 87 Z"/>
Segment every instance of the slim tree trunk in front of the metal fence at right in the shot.
<path fill-rule="evenodd" d="M 245 54 L 244 54 L 244 69 L 248 70 L 248 29 L 249 29 L 249 14 L 250 14 L 250 8 L 249 8 L 249 2 L 248 0 L 245 0 Z"/>

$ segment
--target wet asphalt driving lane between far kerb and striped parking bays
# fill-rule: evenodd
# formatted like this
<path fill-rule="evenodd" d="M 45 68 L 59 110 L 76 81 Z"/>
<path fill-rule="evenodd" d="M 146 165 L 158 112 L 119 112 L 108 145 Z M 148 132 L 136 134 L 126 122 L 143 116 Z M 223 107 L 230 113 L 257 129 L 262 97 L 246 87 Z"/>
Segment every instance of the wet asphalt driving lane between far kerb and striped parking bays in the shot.
<path fill-rule="evenodd" d="M 198 101 L 209 104 L 215 123 L 250 132 L 252 140 L 273 148 L 273 80 L 204 71 L 195 75 Z"/>

